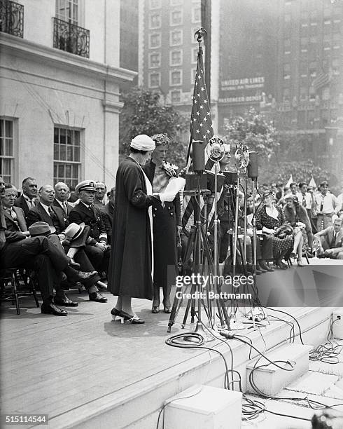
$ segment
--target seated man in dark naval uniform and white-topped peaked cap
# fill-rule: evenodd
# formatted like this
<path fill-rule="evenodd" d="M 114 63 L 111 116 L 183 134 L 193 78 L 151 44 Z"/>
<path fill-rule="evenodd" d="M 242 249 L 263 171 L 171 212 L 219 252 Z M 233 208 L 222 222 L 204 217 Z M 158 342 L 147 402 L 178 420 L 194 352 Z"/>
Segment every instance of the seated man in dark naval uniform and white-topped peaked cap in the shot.
<path fill-rule="evenodd" d="M 69 222 L 76 224 L 84 222 L 90 227 L 92 241 L 87 242 L 85 252 L 97 271 L 108 271 L 109 249 L 106 228 L 99 208 L 94 206 L 96 182 L 84 180 L 76 185 L 75 191 L 80 202 L 69 213 Z"/>

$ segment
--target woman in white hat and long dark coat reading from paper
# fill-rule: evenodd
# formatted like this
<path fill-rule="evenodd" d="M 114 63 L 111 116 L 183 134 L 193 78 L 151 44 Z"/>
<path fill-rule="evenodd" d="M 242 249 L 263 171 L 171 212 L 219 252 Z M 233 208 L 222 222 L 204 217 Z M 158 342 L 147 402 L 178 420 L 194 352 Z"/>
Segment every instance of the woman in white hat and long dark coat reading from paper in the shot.
<path fill-rule="evenodd" d="M 155 149 L 147 135 L 130 144 L 130 156 L 120 163 L 116 177 L 116 204 L 109 267 L 109 291 L 118 295 L 114 318 L 144 323 L 134 314 L 131 299 L 153 299 L 151 184 L 141 169 Z"/>

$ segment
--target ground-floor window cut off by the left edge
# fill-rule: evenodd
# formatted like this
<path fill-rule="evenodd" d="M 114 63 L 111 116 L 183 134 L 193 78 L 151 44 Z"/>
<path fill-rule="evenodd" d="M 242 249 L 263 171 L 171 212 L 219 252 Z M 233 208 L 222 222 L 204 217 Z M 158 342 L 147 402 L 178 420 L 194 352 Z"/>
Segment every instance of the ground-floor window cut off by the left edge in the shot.
<path fill-rule="evenodd" d="M 13 182 L 14 141 L 13 121 L 0 118 L 0 176 L 4 182 Z"/>

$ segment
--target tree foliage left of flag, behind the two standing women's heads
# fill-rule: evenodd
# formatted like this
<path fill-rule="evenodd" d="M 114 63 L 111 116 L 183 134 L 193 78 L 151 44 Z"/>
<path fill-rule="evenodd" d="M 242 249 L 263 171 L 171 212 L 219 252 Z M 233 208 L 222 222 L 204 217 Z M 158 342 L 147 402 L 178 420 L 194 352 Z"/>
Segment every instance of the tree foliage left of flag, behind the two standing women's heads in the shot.
<path fill-rule="evenodd" d="M 161 100 L 160 93 L 134 87 L 123 94 L 124 107 L 120 113 L 120 155 L 128 153 L 130 142 L 139 134 L 166 134 L 171 139 L 167 160 L 176 165 L 184 164 L 187 147 L 181 142 L 187 119 L 173 106 Z M 188 119 L 189 123 L 189 119 Z"/>

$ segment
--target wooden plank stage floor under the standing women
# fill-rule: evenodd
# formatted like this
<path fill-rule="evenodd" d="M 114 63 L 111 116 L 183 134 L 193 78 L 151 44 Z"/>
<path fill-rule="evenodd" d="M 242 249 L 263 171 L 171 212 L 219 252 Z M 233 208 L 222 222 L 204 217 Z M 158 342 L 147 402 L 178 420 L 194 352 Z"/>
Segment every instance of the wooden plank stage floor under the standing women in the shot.
<path fill-rule="evenodd" d="M 48 414 L 51 422 L 61 421 L 78 407 L 208 353 L 167 346 L 169 315 L 153 315 L 150 301 L 134 300 L 144 325 L 113 322 L 116 299 L 105 295 L 108 303 L 99 304 L 71 291 L 79 306 L 66 308 L 67 317 L 42 315 L 31 297 L 20 299 L 20 315 L 10 303 L 1 304 L 2 414 Z M 172 334 L 181 332 L 180 325 L 181 315 Z"/>

